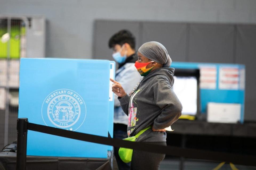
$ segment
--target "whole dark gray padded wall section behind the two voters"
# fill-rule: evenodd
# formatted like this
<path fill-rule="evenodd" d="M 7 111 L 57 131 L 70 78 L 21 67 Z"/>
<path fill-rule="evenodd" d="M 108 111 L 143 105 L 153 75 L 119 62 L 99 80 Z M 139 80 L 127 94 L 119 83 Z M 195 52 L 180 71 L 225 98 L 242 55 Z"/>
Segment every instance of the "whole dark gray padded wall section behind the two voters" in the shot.
<path fill-rule="evenodd" d="M 96 20 L 93 58 L 113 60 L 107 44 L 120 29 L 134 34 L 136 49 L 159 41 L 173 61 L 245 64 L 245 121 L 256 121 L 256 25 Z"/>

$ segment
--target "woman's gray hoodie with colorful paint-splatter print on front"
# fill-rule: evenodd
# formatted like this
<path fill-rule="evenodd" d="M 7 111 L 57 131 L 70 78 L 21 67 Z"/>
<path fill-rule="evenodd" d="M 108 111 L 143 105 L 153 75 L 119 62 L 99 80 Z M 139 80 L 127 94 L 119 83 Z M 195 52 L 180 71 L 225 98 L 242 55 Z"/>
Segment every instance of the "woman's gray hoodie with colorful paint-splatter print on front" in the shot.
<path fill-rule="evenodd" d="M 131 95 L 119 98 L 123 111 L 128 115 L 129 136 L 150 125 L 154 129 L 167 128 L 181 116 L 181 102 L 172 90 L 173 75 L 174 68 L 153 70 Z M 166 133 L 148 129 L 136 141 L 165 142 Z"/>

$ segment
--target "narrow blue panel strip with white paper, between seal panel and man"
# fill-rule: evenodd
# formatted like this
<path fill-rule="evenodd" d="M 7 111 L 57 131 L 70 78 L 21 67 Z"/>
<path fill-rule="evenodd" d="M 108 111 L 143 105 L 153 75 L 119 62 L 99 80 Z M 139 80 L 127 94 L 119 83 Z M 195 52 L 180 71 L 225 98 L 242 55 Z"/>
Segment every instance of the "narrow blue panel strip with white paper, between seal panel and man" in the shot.
<path fill-rule="evenodd" d="M 115 79 L 115 62 L 110 61 L 110 78 Z M 113 126 L 114 126 L 114 93 L 112 92 L 112 84 L 109 84 L 109 134 L 113 138 Z M 108 150 L 112 151 L 113 146 L 108 146 Z"/>

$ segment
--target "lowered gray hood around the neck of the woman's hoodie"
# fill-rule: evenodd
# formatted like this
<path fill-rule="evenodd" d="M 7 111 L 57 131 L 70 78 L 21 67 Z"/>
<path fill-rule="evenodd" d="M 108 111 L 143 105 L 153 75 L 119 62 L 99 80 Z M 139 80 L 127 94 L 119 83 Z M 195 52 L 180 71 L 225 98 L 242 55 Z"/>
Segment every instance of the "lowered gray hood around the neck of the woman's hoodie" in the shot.
<path fill-rule="evenodd" d="M 161 76 L 165 76 L 169 80 L 171 86 L 173 86 L 173 83 L 174 83 L 174 77 L 173 77 L 174 76 L 174 70 L 175 69 L 173 67 L 162 67 L 162 68 L 153 70 L 147 76 L 145 76 L 142 79 L 142 82 L 145 82 L 145 81 L 147 81 L 148 79 L 150 79 L 152 77 L 161 75 Z"/>

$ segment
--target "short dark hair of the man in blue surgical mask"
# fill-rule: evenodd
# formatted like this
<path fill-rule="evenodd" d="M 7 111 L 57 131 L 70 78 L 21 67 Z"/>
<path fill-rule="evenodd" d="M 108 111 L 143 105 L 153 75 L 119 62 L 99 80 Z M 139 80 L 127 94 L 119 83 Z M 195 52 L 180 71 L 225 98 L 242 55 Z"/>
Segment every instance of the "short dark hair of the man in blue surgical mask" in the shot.
<path fill-rule="evenodd" d="M 116 44 L 122 46 L 125 43 L 128 43 L 132 49 L 135 49 L 135 37 L 130 31 L 123 29 L 109 39 L 109 48 L 113 48 Z"/>

